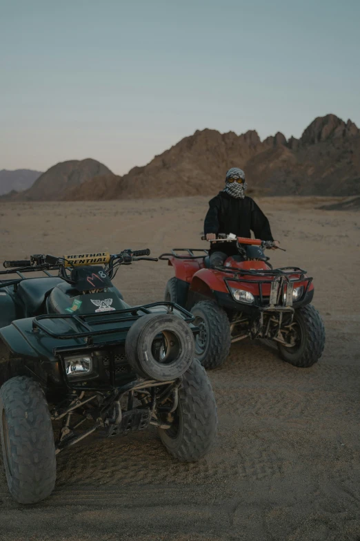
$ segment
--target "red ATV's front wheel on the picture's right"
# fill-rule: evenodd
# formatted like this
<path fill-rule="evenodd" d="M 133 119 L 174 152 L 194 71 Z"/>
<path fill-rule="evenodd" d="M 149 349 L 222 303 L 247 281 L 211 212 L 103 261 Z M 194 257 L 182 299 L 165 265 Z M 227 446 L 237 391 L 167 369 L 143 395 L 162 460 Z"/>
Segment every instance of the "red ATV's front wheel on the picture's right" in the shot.
<path fill-rule="evenodd" d="M 325 345 L 325 329 L 319 312 L 311 305 L 295 310 L 293 329 L 296 343 L 292 348 L 278 343 L 281 358 L 299 368 L 319 361 Z"/>

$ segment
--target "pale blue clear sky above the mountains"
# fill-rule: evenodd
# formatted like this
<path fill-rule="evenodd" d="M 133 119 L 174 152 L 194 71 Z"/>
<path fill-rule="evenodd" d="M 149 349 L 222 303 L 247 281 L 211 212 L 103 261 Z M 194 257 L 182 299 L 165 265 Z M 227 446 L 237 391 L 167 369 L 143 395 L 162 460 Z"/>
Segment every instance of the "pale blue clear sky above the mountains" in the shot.
<path fill-rule="evenodd" d="M 0 169 L 360 125 L 359 0 L 0 0 Z"/>

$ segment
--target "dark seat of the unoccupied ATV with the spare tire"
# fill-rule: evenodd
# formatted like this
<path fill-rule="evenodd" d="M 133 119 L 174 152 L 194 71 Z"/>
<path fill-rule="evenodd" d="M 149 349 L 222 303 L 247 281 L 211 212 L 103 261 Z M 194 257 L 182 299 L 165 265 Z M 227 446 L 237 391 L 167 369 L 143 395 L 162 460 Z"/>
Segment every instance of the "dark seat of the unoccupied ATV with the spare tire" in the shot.
<path fill-rule="evenodd" d="M 61 278 L 26 278 L 19 282 L 17 292 L 25 307 L 25 316 L 37 316 L 45 300 L 46 294 L 57 284 Z"/>

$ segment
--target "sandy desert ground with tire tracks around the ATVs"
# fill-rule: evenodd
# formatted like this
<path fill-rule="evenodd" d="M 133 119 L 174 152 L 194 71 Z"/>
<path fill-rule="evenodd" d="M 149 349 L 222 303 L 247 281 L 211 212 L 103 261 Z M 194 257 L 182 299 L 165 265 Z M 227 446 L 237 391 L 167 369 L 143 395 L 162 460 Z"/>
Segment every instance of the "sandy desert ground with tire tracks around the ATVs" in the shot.
<path fill-rule="evenodd" d="M 34 253 L 206 247 L 208 198 L 2 204 L 1 260 Z M 58 457 L 57 486 L 37 506 L 15 504 L 0 464 L 1 540 L 360 540 L 360 213 L 327 200 L 259 200 L 286 252 L 273 265 L 314 276 L 326 349 L 308 369 L 261 342 L 232 346 L 209 372 L 219 435 L 208 457 L 183 465 L 154 430 L 86 439 Z M 160 300 L 166 263 L 123 267 L 130 303 Z M 0 461 L 1 462 L 1 461 Z"/>

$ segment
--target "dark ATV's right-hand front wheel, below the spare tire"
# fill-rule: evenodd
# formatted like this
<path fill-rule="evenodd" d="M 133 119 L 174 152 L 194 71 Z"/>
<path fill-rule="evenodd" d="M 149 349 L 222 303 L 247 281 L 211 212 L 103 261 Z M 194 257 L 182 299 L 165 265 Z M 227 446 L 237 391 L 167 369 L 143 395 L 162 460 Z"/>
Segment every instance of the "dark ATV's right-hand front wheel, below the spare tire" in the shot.
<path fill-rule="evenodd" d="M 179 404 L 168 429 L 159 428 L 168 453 L 180 462 L 206 455 L 217 435 L 217 405 L 208 375 L 197 359 L 183 374 Z"/>

